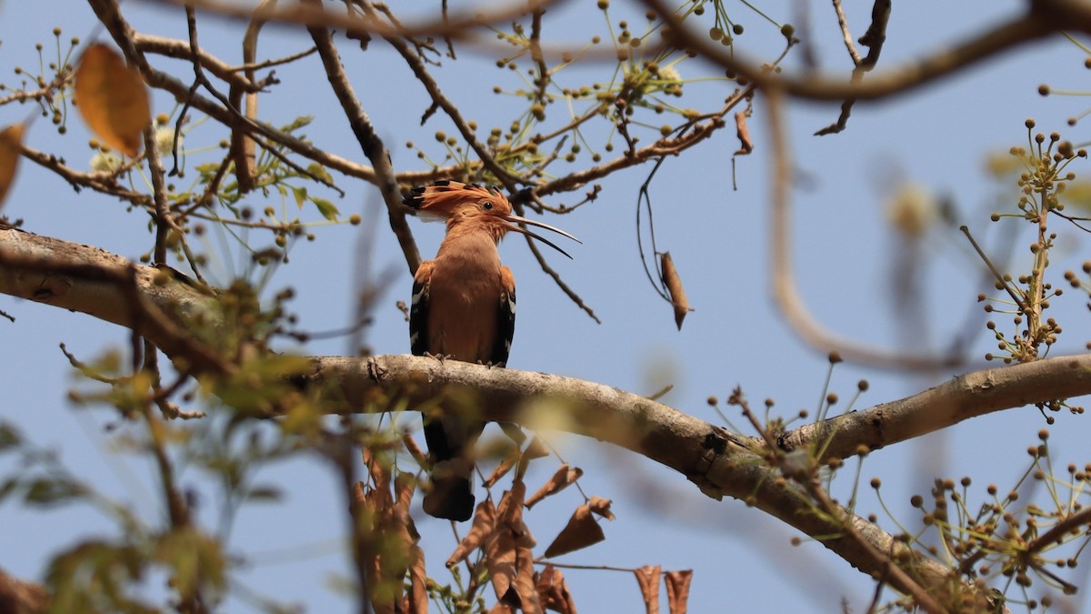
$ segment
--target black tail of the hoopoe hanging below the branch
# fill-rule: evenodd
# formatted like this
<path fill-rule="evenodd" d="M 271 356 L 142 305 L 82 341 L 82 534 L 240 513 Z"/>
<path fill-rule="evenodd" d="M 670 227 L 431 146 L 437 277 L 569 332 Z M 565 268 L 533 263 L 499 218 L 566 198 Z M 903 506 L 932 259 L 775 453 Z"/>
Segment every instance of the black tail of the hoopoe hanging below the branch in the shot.
<path fill-rule="evenodd" d="M 473 513 L 472 447 L 484 423 L 443 416 L 424 420 L 424 440 L 432 459 L 432 489 L 424 511 L 436 518 L 469 520 Z"/>

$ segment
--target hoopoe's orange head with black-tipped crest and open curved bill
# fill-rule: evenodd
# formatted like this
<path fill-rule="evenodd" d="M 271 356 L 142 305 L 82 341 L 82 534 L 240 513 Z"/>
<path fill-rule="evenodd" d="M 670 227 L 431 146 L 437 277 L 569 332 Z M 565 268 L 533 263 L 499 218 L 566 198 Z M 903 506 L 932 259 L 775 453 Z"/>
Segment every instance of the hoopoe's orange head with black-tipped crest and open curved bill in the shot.
<path fill-rule="evenodd" d="M 476 184 L 459 181 L 436 181 L 430 186 L 420 186 L 410 190 L 401 199 L 410 209 L 428 220 L 444 220 L 447 231 L 455 227 L 479 227 L 492 234 L 494 240 L 500 240 L 507 232 L 516 232 L 532 237 L 568 256 L 568 253 L 530 231 L 519 226 L 527 224 L 547 231 L 553 231 L 570 239 L 580 243 L 568 233 L 512 213 L 512 203 L 507 197 L 495 188 L 485 188 Z M 568 256 L 568 258 L 572 258 Z"/>

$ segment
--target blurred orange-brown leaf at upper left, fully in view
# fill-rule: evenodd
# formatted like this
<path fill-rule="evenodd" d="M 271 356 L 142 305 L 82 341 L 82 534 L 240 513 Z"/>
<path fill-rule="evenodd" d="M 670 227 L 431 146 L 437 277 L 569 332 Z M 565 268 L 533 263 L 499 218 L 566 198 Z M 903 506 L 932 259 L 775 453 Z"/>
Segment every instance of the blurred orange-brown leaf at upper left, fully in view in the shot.
<path fill-rule="evenodd" d="M 141 134 L 152 122 L 140 71 L 108 45 L 92 45 L 75 70 L 75 97 L 92 132 L 129 157 L 136 157 Z"/>

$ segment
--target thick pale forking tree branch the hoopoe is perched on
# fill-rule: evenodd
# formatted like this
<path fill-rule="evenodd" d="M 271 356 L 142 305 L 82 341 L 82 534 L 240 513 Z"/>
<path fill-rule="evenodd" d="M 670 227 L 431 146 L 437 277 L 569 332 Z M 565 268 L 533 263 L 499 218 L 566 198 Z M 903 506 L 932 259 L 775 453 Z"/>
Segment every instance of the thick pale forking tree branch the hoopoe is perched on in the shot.
<path fill-rule="evenodd" d="M 123 285 L 122 273 L 132 280 L 129 286 Z M 170 326 L 134 317 L 134 298 L 125 287 L 131 287 L 128 294 L 137 295 L 146 312 L 172 320 Z M 182 341 L 188 338 L 176 330 L 184 322 L 215 326 L 213 295 L 169 270 L 135 265 L 94 247 L 0 227 L 0 293 L 136 327 L 171 357 L 189 361 L 194 371 L 224 368 L 216 362 L 194 361 L 194 349 Z M 385 393 L 399 406 L 405 406 L 400 401 L 412 406 L 452 390 L 472 393 L 487 420 L 551 427 L 632 450 L 681 473 L 710 497 L 744 500 L 807 535 L 822 538 L 823 545 L 864 572 L 884 577 L 889 560 L 908 562 L 903 569 L 909 577 L 930 591 L 960 593 L 961 598 L 967 591 L 975 594 L 975 589 L 966 586 L 951 591 L 958 586 L 957 576 L 947 567 L 916 558 L 903 542 L 847 509 L 838 508 L 838 517 L 817 512 L 807 492 L 766 460 L 769 450 L 760 439 L 730 433 L 644 397 L 549 374 L 421 356 L 314 357 L 312 364 L 312 374 L 297 383 L 327 391 L 328 411 L 374 408 L 376 393 Z M 1002 409 L 1088 393 L 1091 355 L 1052 358 L 967 374 L 901 401 L 798 429 L 779 445 L 801 449 L 836 429 L 828 453 L 843 457 L 860 444 L 877 448 Z M 851 538 L 846 522 L 852 527 Z M 861 546 L 861 539 L 867 547 Z M 891 557 L 878 560 L 875 552 Z M 908 588 L 888 581 L 898 590 Z"/>

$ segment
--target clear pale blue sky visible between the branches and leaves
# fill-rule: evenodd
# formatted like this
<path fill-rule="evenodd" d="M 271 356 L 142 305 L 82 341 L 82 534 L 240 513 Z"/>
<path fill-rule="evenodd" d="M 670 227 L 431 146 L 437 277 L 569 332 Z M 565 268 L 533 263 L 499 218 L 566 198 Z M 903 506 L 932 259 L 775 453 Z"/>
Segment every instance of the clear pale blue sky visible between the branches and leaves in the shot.
<path fill-rule="evenodd" d="M 614 4 L 611 14 L 616 21 L 626 5 Z M 896 5 L 880 69 L 981 32 L 987 24 L 1015 14 L 1023 4 L 968 1 Z M 762 44 L 762 36 L 768 35 L 777 44 L 779 38 L 743 4 L 729 9 L 747 26 L 740 44 L 753 45 L 745 48 L 768 57 L 772 49 Z M 789 9 L 790 3 L 778 2 L 768 11 L 781 21 L 792 21 Z M 847 10 L 859 36 L 865 28 L 870 5 Z M 125 13 L 141 31 L 184 37 L 184 20 L 178 8 L 129 2 Z M 830 13 L 826 4 L 812 8 L 816 45 L 823 66 L 831 74 L 847 74 L 848 60 Z M 12 83 L 8 71 L 13 64 L 36 64 L 33 45 L 40 42 L 48 48 L 52 44 L 50 31 L 58 25 L 65 38 L 85 37 L 93 26 L 92 12 L 75 2 L 0 4 L 0 67 L 5 71 L 4 81 Z M 243 27 L 239 22 L 202 17 L 202 44 L 227 61 L 238 61 L 237 40 Z M 547 34 L 563 32 L 566 39 L 583 40 L 591 33 L 601 33 L 602 16 L 590 5 L 570 3 L 548 16 L 546 27 Z M 423 90 L 382 43 L 372 43 L 362 56 L 352 52 L 344 39 L 339 43 L 357 93 L 392 150 L 395 168 L 423 168 L 404 143 L 415 141 L 431 146 L 432 134 L 436 130 L 449 132 L 449 123 L 435 117 L 423 128 L 419 126 L 428 107 Z M 309 44 L 300 29 L 269 26 L 262 36 L 260 55 L 287 55 Z M 506 126 L 509 120 L 505 114 L 517 108 L 517 103 L 492 95 L 491 87 L 515 86 L 514 75 L 494 68 L 487 52 L 464 49 L 460 58 L 436 71 L 441 85 L 468 118 L 483 126 Z M 182 62 L 158 60 L 157 66 L 187 71 Z M 790 58 L 787 66 L 799 67 L 799 60 Z M 679 70 L 685 79 L 709 72 L 699 61 L 683 62 Z M 920 310 L 927 334 L 907 338 L 896 320 L 898 311 L 890 293 L 899 238 L 886 222 L 884 199 L 899 177 L 947 196 L 975 236 L 991 248 L 1003 250 L 1003 245 L 994 245 L 1003 237 L 990 228 L 987 213 L 998 206 L 998 199 L 1014 197 L 987 176 L 986 157 L 1024 143 L 1027 117 L 1034 117 L 1045 132 L 1060 130 L 1076 142 L 1087 140 L 1081 126 L 1065 125 L 1066 118 L 1083 110 L 1086 99 L 1042 98 L 1038 94 L 1038 85 L 1043 82 L 1079 88 L 1086 70 L 1080 50 L 1071 43 L 1055 39 L 1036 44 L 896 99 L 860 104 L 846 132 L 823 138 L 811 134 L 836 119 L 837 106 L 792 102 L 791 140 L 801 178 L 793 190 L 795 267 L 801 293 L 815 317 L 840 334 L 886 347 L 911 345 L 916 351 L 943 347 L 968 321 L 983 331 L 980 321 L 968 320 L 980 292 L 975 285 L 980 264 L 967 257 L 964 238 L 957 231 L 937 227 L 922 246 L 926 259 L 918 295 L 922 296 Z M 278 69 L 277 74 L 284 84 L 262 97 L 263 116 L 279 125 L 299 115 L 314 115 L 314 123 L 307 129 L 312 140 L 339 155 L 363 161 L 336 101 L 324 85 L 317 59 Z M 573 79 L 579 75 L 577 72 Z M 686 85 L 686 92 L 699 103 L 688 106 L 710 107 L 727 95 L 729 85 L 693 83 Z M 169 111 L 171 106 L 161 96 L 156 97 L 155 105 L 157 111 Z M 0 125 L 22 120 L 26 113 L 26 107 L 0 107 Z M 825 356 L 806 346 L 786 324 L 769 291 L 771 176 L 765 119 L 759 97 L 751 119 L 755 152 L 735 161 L 738 189 L 731 186 L 731 155 L 738 149 L 731 131 L 681 158 L 669 160 L 652 186 L 659 247 L 671 251 L 696 309 L 681 331 L 674 327 L 669 305 L 649 286 L 638 259 L 634 213 L 637 189 L 648 168 L 631 169 L 602 181 L 598 202 L 563 219 L 548 220 L 583 239 L 583 246 L 570 250 L 574 260 L 554 258 L 551 263 L 596 310 L 601 324 L 578 310 L 537 269 L 520 240 L 512 238 L 502 246 L 505 263 L 519 281 L 519 320 L 508 366 L 644 394 L 670 383 L 674 388 L 663 402 L 711 422 L 719 422 L 719 417 L 705 400 L 709 395 L 722 399 L 736 385 L 755 402 L 775 399 L 784 415 L 804 408 L 813 415 L 826 378 Z M 59 138 L 47 121 L 38 121 L 27 142 L 36 149 L 58 152 L 81 167 L 85 165 L 82 161 L 91 157 L 85 145 L 88 135 L 75 118 L 70 120 L 69 129 L 69 137 Z M 214 145 L 221 138 L 214 127 L 203 125 L 187 135 L 185 144 Z M 217 154 L 205 154 L 205 158 L 200 155 L 194 153 L 194 160 L 208 161 Z M 1086 173 L 1080 165 L 1075 169 Z M 377 206 L 377 196 L 370 186 L 347 178 L 337 181 L 347 192 L 337 201 L 343 212 Z M 573 200 L 565 197 L 552 202 Z M 257 209 L 264 206 L 262 202 L 254 204 Z M 24 219 L 31 232 L 96 245 L 132 258 L 147 250 L 152 241 L 143 215 L 127 212 L 109 198 L 86 191 L 73 193 L 62 181 L 27 163 L 8 196 L 5 213 Z M 373 264 L 376 272 L 391 270 L 395 278 L 377 304 L 368 343 L 376 353 L 407 353 L 407 327 L 394 303 L 408 300 L 410 279 L 393 236 L 383 226 L 384 217 L 379 217 Z M 317 216 L 312 212 L 311 219 Z M 411 224 L 422 253 L 434 253 L 442 226 L 415 220 Z M 361 234 L 348 225 L 322 226 L 313 232 L 317 240 L 293 248 L 291 263 L 279 269 L 269 290 L 291 286 L 297 291 L 291 307 L 300 316 L 302 328 L 335 329 L 346 326 L 352 317 L 350 296 L 358 274 L 355 260 Z M 1068 250 L 1062 253 L 1081 261 L 1079 253 L 1086 247 L 1081 234 L 1066 228 L 1062 237 Z M 1030 239 L 1019 235 L 1015 241 L 1016 258 L 1026 259 L 1029 253 L 1018 246 Z M 232 272 L 229 260 L 225 257 L 213 267 L 214 271 L 218 268 L 223 280 Z M 1079 312 L 1083 308 L 1079 297 L 1068 299 L 1057 308 L 1058 319 L 1067 316 L 1062 321 L 1067 322 L 1068 331 L 1058 353 L 1081 351 L 1088 336 L 1083 320 L 1078 319 L 1086 317 L 1086 311 Z M 123 349 L 125 331 L 8 297 L 0 297 L 0 309 L 17 318 L 14 324 L 0 321 L 0 386 L 5 390 L 0 399 L 0 416 L 19 423 L 31 439 L 57 450 L 76 474 L 146 517 L 163 513 L 149 486 L 152 468 L 112 450 L 111 439 L 103 429 L 112 421 L 109 413 L 75 410 L 67 401 L 67 390 L 76 381 L 58 344 L 63 342 L 81 358 L 91 359 L 106 349 Z M 980 350 L 974 356 L 980 357 L 992 343 L 983 334 L 976 341 Z M 351 351 L 344 339 L 314 342 L 297 350 L 314 355 Z M 923 390 L 950 375 L 886 373 L 850 364 L 835 371 L 831 389 L 848 398 L 859 379 L 868 379 L 871 389 L 856 404 L 865 408 Z M 735 415 L 730 417 L 736 425 L 742 424 Z M 1056 417 L 1051 444 L 1060 464 L 1087 462 L 1080 456 L 1086 448 L 1078 437 L 1079 421 L 1086 418 L 1068 414 Z M 1024 450 L 1035 442 L 1034 434 L 1044 426 L 1033 408 L 975 420 L 872 454 L 862 470 L 862 485 L 873 475 L 882 476 L 889 508 L 898 520 L 913 526 L 918 521 L 908 504 L 911 493 L 926 493 L 936 475 L 969 475 L 975 484 L 995 482 L 1005 488 L 1024 469 Z M 618 516 L 604 527 L 604 543 L 567 555 L 563 562 L 693 568 L 693 612 L 829 612 L 840 609 L 842 598 L 855 612 L 866 609 L 873 589 L 870 579 L 816 543 L 791 546 L 789 540 L 796 533 L 779 522 L 739 501 L 712 501 L 683 476 L 623 450 L 574 436 L 558 435 L 555 441 L 567 461 L 586 471 L 580 482 L 584 489 L 613 499 Z M 13 469 L 0 459 L 0 473 Z M 848 497 L 854 469 L 851 467 L 840 476 L 836 495 Z M 552 470 L 552 461 L 541 461 L 538 472 L 528 479 L 530 487 L 537 485 L 536 475 L 544 480 Z M 279 505 L 245 507 L 233 524 L 229 544 L 232 552 L 248 555 L 248 568 L 241 575 L 247 587 L 304 604 L 310 612 L 349 611 L 349 601 L 329 588 L 329 578 L 344 574 L 347 560 L 339 546 L 343 503 L 332 477 L 328 468 L 313 460 L 272 465 L 259 474 L 260 482 L 288 489 L 288 497 Z M 208 494 L 204 518 L 215 527 L 215 491 L 207 477 L 189 471 L 184 483 Z M 983 489 L 976 494 L 983 497 Z M 568 492 L 529 511 L 527 521 L 539 543 L 544 546 L 579 503 L 578 495 Z M 865 515 L 878 513 L 884 528 L 896 530 L 866 494 L 860 509 Z M 441 574 L 442 560 L 454 547 L 451 532 L 445 523 L 425 518 L 419 519 L 418 526 L 424 533 L 431 569 Z M 0 565 L 22 577 L 40 577 L 56 548 L 108 530 L 100 517 L 85 509 L 44 513 L 9 503 L 0 507 L 0 553 L 4 553 Z M 297 547 L 302 550 L 293 550 Z M 320 555 L 303 556 L 300 552 Z M 630 574 L 573 570 L 566 576 L 582 611 L 630 612 L 642 607 L 636 581 Z M 1069 578 L 1079 581 L 1081 576 L 1077 572 Z M 149 586 L 149 590 L 158 590 L 151 580 Z M 231 601 L 227 611 L 245 612 L 249 606 Z"/>

